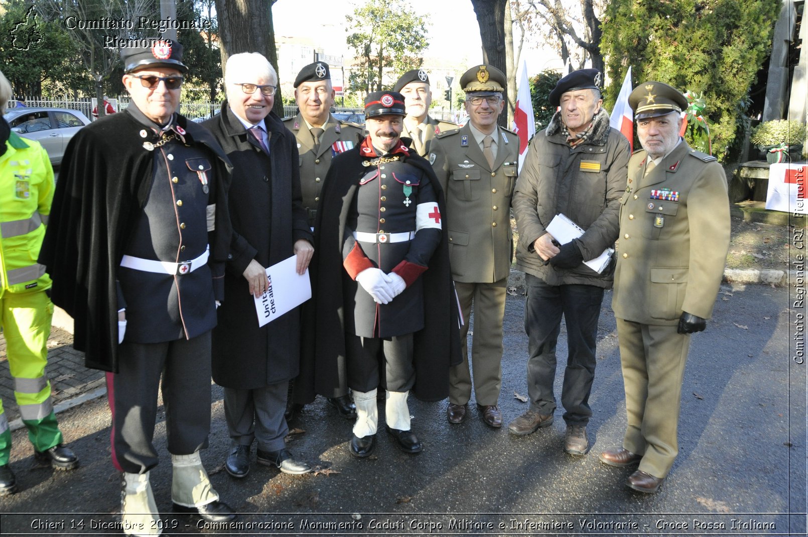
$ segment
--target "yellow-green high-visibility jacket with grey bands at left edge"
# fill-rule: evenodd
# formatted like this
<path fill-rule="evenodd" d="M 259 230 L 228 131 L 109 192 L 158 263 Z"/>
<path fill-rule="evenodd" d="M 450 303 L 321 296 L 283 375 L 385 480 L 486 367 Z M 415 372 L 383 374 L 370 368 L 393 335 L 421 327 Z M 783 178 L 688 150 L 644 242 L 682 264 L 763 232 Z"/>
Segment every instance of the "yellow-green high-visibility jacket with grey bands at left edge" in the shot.
<path fill-rule="evenodd" d="M 53 168 L 39 142 L 12 132 L 0 156 L 0 297 L 51 286 L 36 262 L 53 201 Z"/>

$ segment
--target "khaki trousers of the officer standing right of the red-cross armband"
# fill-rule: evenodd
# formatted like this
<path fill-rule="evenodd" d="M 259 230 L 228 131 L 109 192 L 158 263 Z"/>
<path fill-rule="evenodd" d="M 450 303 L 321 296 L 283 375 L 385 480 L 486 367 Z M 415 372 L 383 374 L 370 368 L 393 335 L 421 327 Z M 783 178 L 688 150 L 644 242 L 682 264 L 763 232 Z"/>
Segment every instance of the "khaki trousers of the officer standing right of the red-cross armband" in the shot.
<path fill-rule="evenodd" d="M 492 283 L 455 282 L 465 323 L 461 327 L 463 362 L 449 369 L 449 402 L 471 399 L 472 373 L 477 404 L 497 404 L 503 378 L 503 318 L 507 277 Z M 474 310 L 474 330 L 469 361 L 469 317 Z M 470 367 L 469 367 L 470 362 Z"/>

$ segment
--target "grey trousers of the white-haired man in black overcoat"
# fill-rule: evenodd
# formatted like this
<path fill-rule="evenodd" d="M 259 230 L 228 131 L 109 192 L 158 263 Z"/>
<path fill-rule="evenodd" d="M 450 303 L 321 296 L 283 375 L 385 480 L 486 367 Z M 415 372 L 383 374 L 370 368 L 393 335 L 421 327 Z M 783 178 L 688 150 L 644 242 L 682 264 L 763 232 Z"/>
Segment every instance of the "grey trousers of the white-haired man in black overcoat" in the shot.
<path fill-rule="evenodd" d="M 284 449 L 288 387 L 288 380 L 253 390 L 225 387 L 225 419 L 234 446 L 255 440 L 262 451 Z"/>

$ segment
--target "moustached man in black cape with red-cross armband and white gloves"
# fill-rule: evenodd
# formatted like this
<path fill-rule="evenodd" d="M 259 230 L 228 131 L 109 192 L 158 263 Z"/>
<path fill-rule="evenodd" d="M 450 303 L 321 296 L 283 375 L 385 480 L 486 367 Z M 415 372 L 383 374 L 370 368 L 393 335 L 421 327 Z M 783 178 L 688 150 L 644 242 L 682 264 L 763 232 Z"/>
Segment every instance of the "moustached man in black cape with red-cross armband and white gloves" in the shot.
<path fill-rule="evenodd" d="M 400 139 L 404 114 L 399 93 L 367 96 L 368 137 L 331 164 L 315 227 L 315 380 L 329 390 L 347 363 L 356 457 L 376 446 L 380 381 L 387 432 L 418 453 L 407 395 L 443 399 L 450 362 L 460 361 L 443 195 L 427 161 Z"/>

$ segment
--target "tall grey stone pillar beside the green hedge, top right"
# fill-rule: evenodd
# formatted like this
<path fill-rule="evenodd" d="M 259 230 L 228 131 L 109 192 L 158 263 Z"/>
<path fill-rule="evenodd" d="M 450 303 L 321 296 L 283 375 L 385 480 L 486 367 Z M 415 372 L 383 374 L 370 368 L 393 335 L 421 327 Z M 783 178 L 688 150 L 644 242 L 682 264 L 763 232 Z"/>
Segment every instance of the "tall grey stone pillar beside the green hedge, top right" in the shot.
<path fill-rule="evenodd" d="M 772 56 L 768 61 L 768 82 L 763 107 L 763 121 L 781 120 L 789 84 L 789 41 L 794 32 L 794 2 L 783 0 L 774 25 Z"/>

